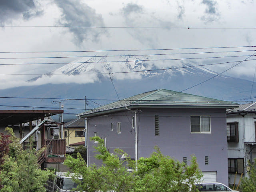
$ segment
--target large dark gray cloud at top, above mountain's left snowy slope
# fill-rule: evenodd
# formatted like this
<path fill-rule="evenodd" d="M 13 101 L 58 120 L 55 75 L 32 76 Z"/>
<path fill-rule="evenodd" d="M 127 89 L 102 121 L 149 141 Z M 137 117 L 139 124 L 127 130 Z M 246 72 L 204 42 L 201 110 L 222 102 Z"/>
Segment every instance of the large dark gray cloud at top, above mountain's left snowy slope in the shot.
<path fill-rule="evenodd" d="M 63 26 L 104 26 L 103 18 L 88 5 L 80 0 L 55 0 L 62 10 L 58 21 Z M 68 28 L 74 34 L 74 43 L 81 45 L 84 40 L 97 42 L 101 34 L 106 33 L 103 28 Z"/>

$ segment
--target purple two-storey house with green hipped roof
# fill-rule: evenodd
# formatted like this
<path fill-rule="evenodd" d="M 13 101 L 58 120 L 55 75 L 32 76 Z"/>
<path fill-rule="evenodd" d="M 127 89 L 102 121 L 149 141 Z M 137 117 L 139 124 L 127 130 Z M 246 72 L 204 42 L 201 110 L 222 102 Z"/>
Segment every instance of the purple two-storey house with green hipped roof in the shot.
<path fill-rule="evenodd" d="M 78 114 L 87 125 L 87 162 L 101 163 L 89 139 L 99 136 L 109 152 L 120 148 L 134 160 L 149 157 L 154 146 L 179 161 L 194 154 L 205 181 L 228 184 L 226 109 L 238 106 L 160 89 L 88 110 Z"/>

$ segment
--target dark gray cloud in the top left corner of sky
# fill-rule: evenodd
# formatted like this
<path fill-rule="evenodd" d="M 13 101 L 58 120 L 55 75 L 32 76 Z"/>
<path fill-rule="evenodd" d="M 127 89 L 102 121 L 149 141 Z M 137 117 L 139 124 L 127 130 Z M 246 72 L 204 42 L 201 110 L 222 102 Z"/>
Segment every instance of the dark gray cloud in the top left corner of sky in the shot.
<path fill-rule="evenodd" d="M 4 25 L 12 19 L 19 18 L 28 20 L 42 14 L 36 6 L 35 0 L 0 0 L 0 23 Z"/>

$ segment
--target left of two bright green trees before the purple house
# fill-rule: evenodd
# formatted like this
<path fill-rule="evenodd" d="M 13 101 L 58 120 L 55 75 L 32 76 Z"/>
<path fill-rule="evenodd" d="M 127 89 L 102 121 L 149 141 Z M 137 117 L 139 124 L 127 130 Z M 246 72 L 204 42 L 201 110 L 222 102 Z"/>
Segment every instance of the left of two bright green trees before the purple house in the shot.
<path fill-rule="evenodd" d="M 82 182 L 78 179 L 79 191 L 95 192 L 95 191 L 115 191 L 115 192 L 129 192 L 133 191 L 134 174 L 127 172 L 127 162 L 130 159 L 127 156 L 126 160 L 121 160 L 120 155 L 124 152 L 116 149 L 114 154 L 110 154 L 104 147 L 104 141 L 99 137 L 92 137 L 91 140 L 98 141 L 98 146 L 95 147 L 96 159 L 102 160 L 102 166 L 91 165 L 86 166 L 86 162 L 78 153 L 78 158 L 74 159 L 68 156 L 64 162 L 69 166 L 77 176 L 82 176 Z"/>

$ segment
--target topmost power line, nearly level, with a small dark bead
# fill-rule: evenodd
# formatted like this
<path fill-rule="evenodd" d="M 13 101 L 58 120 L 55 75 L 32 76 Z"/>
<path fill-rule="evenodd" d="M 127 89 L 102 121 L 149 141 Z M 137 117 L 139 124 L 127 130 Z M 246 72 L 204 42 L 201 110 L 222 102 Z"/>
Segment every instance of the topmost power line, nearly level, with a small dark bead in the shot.
<path fill-rule="evenodd" d="M 115 29 L 256 29 L 256 27 L 132 27 L 132 26 L 0 26 L 15 28 L 115 28 Z"/>

